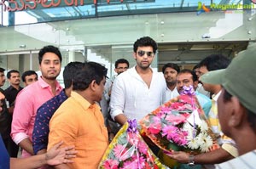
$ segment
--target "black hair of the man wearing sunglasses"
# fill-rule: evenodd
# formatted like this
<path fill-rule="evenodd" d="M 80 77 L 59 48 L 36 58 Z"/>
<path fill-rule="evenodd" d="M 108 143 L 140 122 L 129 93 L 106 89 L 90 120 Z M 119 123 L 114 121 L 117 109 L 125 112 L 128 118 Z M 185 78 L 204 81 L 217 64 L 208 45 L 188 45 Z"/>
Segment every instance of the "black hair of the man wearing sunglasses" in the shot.
<path fill-rule="evenodd" d="M 141 37 L 137 39 L 136 42 L 133 44 L 133 52 L 137 53 L 137 48 L 138 47 L 152 47 L 153 48 L 153 53 L 156 53 L 157 50 L 157 43 L 152 39 L 151 37 Z"/>

